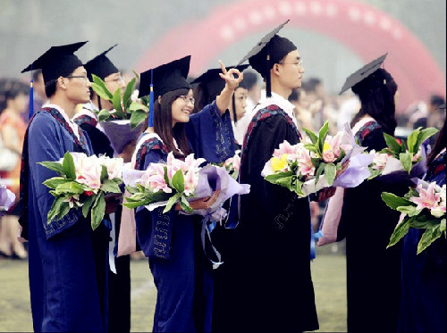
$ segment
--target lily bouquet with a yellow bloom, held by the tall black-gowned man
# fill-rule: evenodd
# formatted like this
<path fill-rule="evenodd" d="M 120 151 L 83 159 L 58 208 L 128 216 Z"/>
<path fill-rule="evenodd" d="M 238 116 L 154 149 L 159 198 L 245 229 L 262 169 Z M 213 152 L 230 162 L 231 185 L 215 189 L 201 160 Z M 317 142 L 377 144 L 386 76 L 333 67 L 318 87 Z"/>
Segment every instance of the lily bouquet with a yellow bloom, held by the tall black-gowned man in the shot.
<path fill-rule="evenodd" d="M 308 196 L 324 187 L 356 187 L 369 177 L 367 165 L 372 161 L 365 148 L 355 143 L 349 126 L 331 137 L 327 134 L 328 122 L 318 135 L 308 129 L 303 142 L 291 146 L 287 141 L 274 150 L 266 162 L 262 175 L 273 184 L 289 188 L 298 196 Z M 346 162 L 354 160 L 345 171 L 348 176 L 337 177 Z M 351 163 L 350 163 L 351 164 Z"/>

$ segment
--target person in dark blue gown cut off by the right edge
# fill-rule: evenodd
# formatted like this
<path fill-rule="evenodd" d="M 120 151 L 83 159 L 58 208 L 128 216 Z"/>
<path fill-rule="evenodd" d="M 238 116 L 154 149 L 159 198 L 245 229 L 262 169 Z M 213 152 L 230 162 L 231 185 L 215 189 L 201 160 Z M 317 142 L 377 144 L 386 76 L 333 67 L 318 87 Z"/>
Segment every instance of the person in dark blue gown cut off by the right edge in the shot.
<path fill-rule="evenodd" d="M 445 112 L 445 106 L 444 106 Z M 432 152 L 428 156 L 427 182 L 445 185 L 447 122 L 444 121 Z M 445 193 L 445 192 L 444 192 Z M 445 200 L 445 198 L 444 198 Z M 445 215 L 444 215 L 445 218 Z M 417 254 L 424 233 L 409 229 L 402 248 L 402 296 L 398 332 L 447 331 L 447 240 L 441 236 Z"/>

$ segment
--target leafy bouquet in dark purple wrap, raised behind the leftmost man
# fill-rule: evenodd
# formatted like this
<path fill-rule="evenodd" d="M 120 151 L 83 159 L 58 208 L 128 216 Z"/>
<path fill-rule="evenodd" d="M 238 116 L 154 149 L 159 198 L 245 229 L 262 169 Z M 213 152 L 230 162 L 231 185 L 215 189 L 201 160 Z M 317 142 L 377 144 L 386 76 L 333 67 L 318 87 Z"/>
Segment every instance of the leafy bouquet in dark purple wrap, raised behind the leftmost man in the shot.
<path fill-rule="evenodd" d="M 148 116 L 148 106 L 132 97 L 135 90 L 136 79 L 131 79 L 122 93 L 120 87 L 112 93 L 105 87 L 105 82 L 92 74 L 92 89 L 114 105 L 113 110 L 100 110 L 97 113 L 105 134 L 110 139 L 114 150 L 122 153 L 123 147 L 132 139 L 139 137 L 140 130 Z"/>

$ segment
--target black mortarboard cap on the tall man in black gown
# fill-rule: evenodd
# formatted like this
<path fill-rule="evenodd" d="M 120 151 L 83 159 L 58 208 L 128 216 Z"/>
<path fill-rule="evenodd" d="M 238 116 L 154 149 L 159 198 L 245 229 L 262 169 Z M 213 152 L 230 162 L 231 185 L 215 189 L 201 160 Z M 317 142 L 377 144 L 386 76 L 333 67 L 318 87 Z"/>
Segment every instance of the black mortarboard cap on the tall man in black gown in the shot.
<path fill-rule="evenodd" d="M 254 46 L 238 63 L 239 65 L 240 63 L 249 60 L 251 67 L 266 79 L 267 97 L 272 95 L 270 87 L 270 70 L 272 69 L 272 66 L 274 63 L 280 62 L 283 57 L 291 51 L 297 49 L 297 46 L 295 46 L 289 39 L 276 35 L 289 21 L 290 20 L 283 22 L 283 24 L 262 37 L 257 45 Z"/>

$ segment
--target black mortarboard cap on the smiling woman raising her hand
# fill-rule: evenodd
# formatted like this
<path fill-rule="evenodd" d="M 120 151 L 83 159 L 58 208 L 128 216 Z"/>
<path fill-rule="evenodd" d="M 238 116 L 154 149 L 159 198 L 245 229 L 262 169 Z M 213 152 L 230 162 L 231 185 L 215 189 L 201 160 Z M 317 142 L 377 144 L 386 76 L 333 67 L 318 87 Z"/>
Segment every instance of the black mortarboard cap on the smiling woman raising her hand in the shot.
<path fill-rule="evenodd" d="M 150 94 L 151 84 L 154 86 L 154 97 L 163 96 L 169 91 L 190 88 L 186 80 L 190 71 L 191 56 L 187 55 L 173 62 L 164 63 L 154 69 L 144 71 L 139 77 L 139 97 Z"/>

